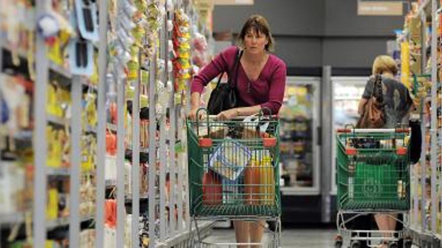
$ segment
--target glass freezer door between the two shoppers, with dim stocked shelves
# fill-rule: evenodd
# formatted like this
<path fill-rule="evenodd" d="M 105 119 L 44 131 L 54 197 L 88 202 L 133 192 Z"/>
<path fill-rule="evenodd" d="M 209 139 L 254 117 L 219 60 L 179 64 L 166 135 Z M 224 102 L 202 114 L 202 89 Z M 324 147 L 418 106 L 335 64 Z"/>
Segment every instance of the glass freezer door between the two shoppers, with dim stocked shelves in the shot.
<path fill-rule="evenodd" d="M 281 191 L 284 195 L 317 195 L 320 192 L 319 90 L 320 78 L 287 78 L 279 112 Z"/>

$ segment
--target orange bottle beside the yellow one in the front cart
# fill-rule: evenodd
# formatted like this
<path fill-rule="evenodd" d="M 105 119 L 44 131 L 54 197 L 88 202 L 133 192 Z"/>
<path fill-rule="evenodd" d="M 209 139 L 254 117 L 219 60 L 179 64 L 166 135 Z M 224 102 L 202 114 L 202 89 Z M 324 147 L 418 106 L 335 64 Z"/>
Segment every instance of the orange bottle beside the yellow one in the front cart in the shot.
<path fill-rule="evenodd" d="M 257 162 L 252 159 L 244 169 L 244 193 L 247 205 L 260 205 L 260 173 Z"/>

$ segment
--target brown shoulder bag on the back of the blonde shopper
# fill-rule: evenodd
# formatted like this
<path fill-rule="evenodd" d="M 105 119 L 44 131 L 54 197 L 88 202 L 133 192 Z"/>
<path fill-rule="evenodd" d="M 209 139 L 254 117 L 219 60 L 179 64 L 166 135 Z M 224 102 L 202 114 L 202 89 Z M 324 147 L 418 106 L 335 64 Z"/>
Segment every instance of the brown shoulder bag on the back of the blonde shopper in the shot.
<path fill-rule="evenodd" d="M 381 128 L 385 124 L 382 77 L 376 75 L 370 99 L 364 106 L 356 128 Z"/>

